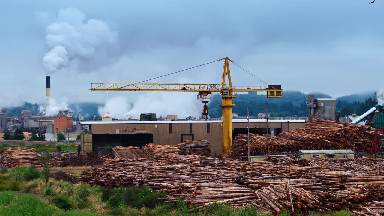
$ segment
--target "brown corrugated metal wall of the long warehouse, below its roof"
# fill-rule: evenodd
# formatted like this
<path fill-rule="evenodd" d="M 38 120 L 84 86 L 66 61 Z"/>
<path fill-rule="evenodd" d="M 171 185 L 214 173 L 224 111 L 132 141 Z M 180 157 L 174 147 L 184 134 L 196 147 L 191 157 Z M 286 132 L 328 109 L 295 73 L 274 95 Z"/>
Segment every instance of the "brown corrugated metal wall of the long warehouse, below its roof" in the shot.
<path fill-rule="evenodd" d="M 171 124 L 171 126 L 170 126 Z M 209 126 L 208 126 L 209 124 Z M 192 125 L 192 133 L 190 125 Z M 288 123 L 273 122 L 270 128 L 280 128 L 288 131 Z M 289 129 L 304 128 L 305 123 L 289 123 Z M 208 129 L 209 127 L 209 129 Z M 251 128 L 265 128 L 266 123 L 250 123 Z M 208 140 L 212 146 L 212 156 L 222 151 L 221 123 L 130 123 L 130 124 L 94 124 L 90 127 L 92 134 L 129 134 L 152 133 L 153 142 L 159 144 L 177 145 L 183 140 Z M 247 128 L 247 123 L 233 123 L 233 128 Z"/>

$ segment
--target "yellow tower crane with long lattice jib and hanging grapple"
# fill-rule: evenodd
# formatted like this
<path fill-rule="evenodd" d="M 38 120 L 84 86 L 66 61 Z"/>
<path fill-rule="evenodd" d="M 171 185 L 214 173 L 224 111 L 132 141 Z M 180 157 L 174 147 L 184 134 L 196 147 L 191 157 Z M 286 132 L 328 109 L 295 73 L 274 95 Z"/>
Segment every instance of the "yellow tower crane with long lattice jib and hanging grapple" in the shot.
<path fill-rule="evenodd" d="M 208 107 L 206 103 L 212 99 L 212 92 L 220 92 L 222 103 L 220 106 L 223 110 L 223 154 L 232 152 L 232 107 L 235 106 L 234 98 L 236 92 L 263 91 L 266 92 L 268 98 L 280 98 L 283 96 L 283 90 L 280 85 L 266 86 L 232 86 L 231 74 L 229 70 L 228 57 L 217 61 L 224 60 L 222 82 L 212 83 L 91 83 L 91 91 L 181 91 L 181 92 L 198 92 L 197 99 L 205 103 L 203 108 L 203 116 L 208 117 Z M 214 62 L 214 61 L 212 61 Z M 212 63 L 211 62 L 211 63 Z M 207 63 L 208 64 L 208 63 Z M 237 63 L 235 63 L 237 65 Z M 204 64 L 206 65 L 206 64 Z M 201 66 L 201 65 L 200 65 Z M 240 65 L 237 65 L 242 68 Z M 195 68 L 195 67 L 194 67 Z M 244 68 L 242 68 L 245 70 Z M 186 69 L 187 70 L 187 69 Z M 183 70 L 184 71 L 184 70 Z M 247 70 L 245 70 L 247 71 Z M 247 71 L 250 73 L 249 71 Z M 172 73 L 173 74 L 173 73 Z M 252 73 L 250 73 L 253 75 Z M 253 75 L 254 76 L 254 75 Z M 256 77 L 256 76 L 255 76 Z M 228 81 L 228 83 L 226 83 Z M 264 82 L 265 83 L 265 82 Z"/>

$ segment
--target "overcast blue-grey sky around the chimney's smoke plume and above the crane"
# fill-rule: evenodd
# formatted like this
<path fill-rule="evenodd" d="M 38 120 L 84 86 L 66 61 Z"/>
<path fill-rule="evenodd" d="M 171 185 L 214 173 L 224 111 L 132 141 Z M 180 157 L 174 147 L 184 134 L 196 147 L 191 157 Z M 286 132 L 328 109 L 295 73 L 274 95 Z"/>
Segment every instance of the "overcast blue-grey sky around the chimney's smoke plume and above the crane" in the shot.
<path fill-rule="evenodd" d="M 225 56 L 283 90 L 334 97 L 375 91 L 384 79 L 384 1 L 369 2 L 3 1 L 0 105 L 45 101 L 42 61 L 56 45 L 48 44 L 47 27 L 76 19 L 71 13 L 58 16 L 68 8 L 83 13 L 85 20 L 101 20 L 113 41 L 99 40 L 93 53 L 97 58 L 71 53 L 76 45 L 66 48 L 68 67 L 51 75 L 52 96 L 58 100 L 105 103 L 114 96 L 134 100 L 142 93 L 90 92 L 90 83 L 138 82 Z M 98 36 L 97 31 L 92 34 Z M 154 82 L 220 83 L 222 63 Z M 262 85 L 235 65 L 230 67 L 233 85 Z M 152 95 L 159 94 L 166 93 Z M 184 93 L 172 96 L 184 97 Z"/>

